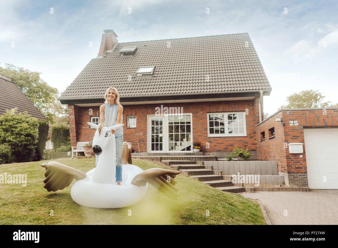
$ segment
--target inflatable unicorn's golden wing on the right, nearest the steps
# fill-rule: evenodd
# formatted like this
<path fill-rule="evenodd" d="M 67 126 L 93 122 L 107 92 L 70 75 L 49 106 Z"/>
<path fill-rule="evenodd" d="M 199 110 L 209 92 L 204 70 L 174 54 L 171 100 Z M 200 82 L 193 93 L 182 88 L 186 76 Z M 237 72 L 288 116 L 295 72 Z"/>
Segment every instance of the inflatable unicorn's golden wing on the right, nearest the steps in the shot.
<path fill-rule="evenodd" d="M 137 174 L 131 183 L 136 186 L 144 186 L 148 182 L 170 199 L 177 200 L 178 188 L 174 186 L 177 183 L 174 178 L 180 173 L 169 169 L 151 168 Z"/>

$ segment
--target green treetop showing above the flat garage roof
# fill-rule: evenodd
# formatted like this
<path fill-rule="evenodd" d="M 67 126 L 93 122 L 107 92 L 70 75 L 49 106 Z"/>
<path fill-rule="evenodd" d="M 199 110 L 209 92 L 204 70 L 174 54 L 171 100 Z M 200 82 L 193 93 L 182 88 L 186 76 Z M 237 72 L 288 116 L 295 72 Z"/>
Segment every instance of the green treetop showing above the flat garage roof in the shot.
<path fill-rule="evenodd" d="M 298 109 L 298 108 L 310 108 L 310 107 L 337 107 L 338 103 L 332 103 L 330 101 L 324 102 L 325 96 L 318 92 L 318 90 L 303 90 L 299 93 L 293 93 L 286 99 L 285 105 L 282 105 L 281 109 Z"/>

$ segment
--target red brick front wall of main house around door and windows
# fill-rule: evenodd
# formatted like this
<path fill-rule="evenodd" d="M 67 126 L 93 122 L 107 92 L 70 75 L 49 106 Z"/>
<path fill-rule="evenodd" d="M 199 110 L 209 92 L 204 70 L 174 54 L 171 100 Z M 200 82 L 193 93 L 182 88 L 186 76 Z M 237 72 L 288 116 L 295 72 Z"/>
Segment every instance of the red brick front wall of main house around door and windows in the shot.
<path fill-rule="evenodd" d="M 249 148 L 250 151 L 256 151 L 256 124 L 259 123 L 258 101 L 259 97 L 254 100 L 162 103 L 162 105 L 163 107 L 183 107 L 183 113 L 192 113 L 193 140 L 199 140 L 202 143 L 202 151 L 232 151 L 235 145 L 243 149 Z M 72 145 L 76 145 L 76 142 L 92 140 L 95 130 L 90 129 L 87 124 L 87 122 L 90 122 L 89 109 L 93 110 L 92 116 L 99 116 L 99 106 L 68 106 Z M 123 140 L 131 142 L 134 151 L 138 151 L 137 141 L 139 141 L 140 151 L 147 151 L 147 115 L 155 114 L 155 107 L 161 107 L 161 103 L 123 105 L 122 123 L 125 124 L 123 126 Z M 245 116 L 246 137 L 208 137 L 207 113 L 245 111 L 245 109 L 248 109 L 248 115 Z M 128 115 L 136 115 L 136 128 L 126 128 Z M 76 137 L 74 136 L 75 133 Z M 206 148 L 207 142 L 210 144 L 209 149 Z"/>

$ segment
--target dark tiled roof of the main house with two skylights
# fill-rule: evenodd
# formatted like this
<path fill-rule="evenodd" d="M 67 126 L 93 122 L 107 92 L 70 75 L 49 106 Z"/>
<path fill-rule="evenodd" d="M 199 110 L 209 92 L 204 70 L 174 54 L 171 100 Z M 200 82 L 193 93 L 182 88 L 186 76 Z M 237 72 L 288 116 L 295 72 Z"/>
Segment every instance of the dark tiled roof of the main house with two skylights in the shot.
<path fill-rule="evenodd" d="M 137 46 L 135 55 L 121 57 L 124 46 Z M 156 66 L 154 74 L 136 77 L 141 66 Z M 271 90 L 247 33 L 117 43 L 92 59 L 60 99 L 102 97 L 111 86 L 121 97 Z"/>

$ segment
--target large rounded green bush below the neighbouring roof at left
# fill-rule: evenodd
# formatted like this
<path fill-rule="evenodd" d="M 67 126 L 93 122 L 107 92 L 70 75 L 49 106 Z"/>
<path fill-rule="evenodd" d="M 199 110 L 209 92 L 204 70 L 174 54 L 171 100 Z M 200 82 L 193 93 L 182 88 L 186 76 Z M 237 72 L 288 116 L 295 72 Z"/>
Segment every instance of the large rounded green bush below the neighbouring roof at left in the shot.
<path fill-rule="evenodd" d="M 32 161 L 38 136 L 38 119 L 27 111 L 17 114 L 16 109 L 7 110 L 0 116 L 0 144 L 11 147 L 15 162 Z"/>

